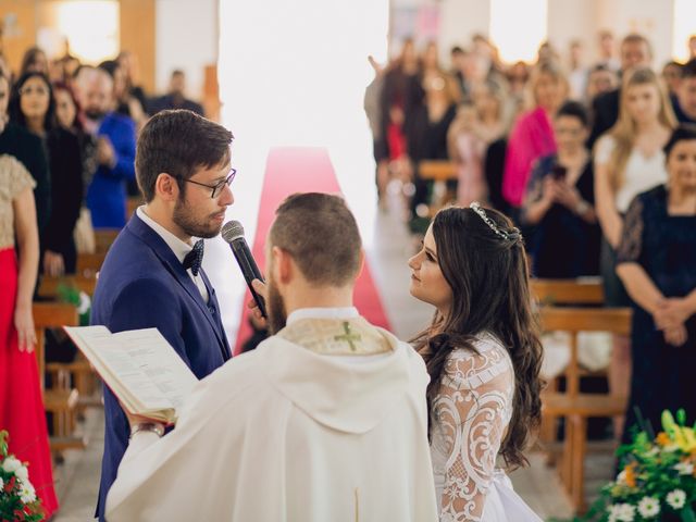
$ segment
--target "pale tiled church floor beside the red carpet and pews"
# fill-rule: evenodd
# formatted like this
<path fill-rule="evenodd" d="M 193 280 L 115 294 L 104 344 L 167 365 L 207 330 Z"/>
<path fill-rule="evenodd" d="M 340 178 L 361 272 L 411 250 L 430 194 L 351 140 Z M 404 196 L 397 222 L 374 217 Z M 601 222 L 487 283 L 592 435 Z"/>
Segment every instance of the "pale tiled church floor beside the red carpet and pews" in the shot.
<path fill-rule="evenodd" d="M 376 219 L 375 237 L 365 243 L 373 245 L 368 257 L 389 320 L 397 335 L 407 339 L 427 324 L 432 309 L 408 294 L 407 260 L 413 253 L 415 244 L 402 224 L 398 197 L 394 195 L 389 203 L 389 210 L 380 212 Z M 88 448 L 85 451 L 69 451 L 65 462 L 57 470 L 62 508 L 55 522 L 87 521 L 94 514 L 103 446 L 102 411 L 88 410 L 83 430 L 89 436 Z M 515 489 L 544 519 L 570 517 L 570 505 L 555 470 L 546 467 L 542 453 L 532 452 L 530 461 L 530 468 L 511 473 Z M 593 457 L 587 468 L 588 490 L 596 490 L 607 478 L 611 459 Z"/>

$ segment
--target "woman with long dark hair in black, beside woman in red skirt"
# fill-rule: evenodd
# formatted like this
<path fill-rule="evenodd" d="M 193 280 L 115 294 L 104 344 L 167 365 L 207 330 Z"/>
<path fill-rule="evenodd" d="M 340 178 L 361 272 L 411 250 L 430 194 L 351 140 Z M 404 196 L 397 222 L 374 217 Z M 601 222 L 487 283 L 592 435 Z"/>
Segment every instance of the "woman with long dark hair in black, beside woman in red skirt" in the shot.
<path fill-rule="evenodd" d="M 73 231 L 83 200 L 83 165 L 77 137 L 55 122 L 55 100 L 48 77 L 26 73 L 14 85 L 10 119 L 44 141 L 51 173 L 51 214 L 41 231 L 41 269 L 59 276 L 75 273 Z"/>

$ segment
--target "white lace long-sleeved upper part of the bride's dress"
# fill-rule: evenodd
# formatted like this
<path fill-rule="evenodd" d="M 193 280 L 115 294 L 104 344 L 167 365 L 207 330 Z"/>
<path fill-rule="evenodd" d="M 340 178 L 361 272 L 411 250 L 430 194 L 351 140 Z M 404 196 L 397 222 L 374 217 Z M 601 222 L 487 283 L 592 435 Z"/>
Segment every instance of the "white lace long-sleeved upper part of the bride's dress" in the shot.
<path fill-rule="evenodd" d="M 433 409 L 431 451 L 440 522 L 480 521 L 496 474 L 496 458 L 512 417 L 514 371 L 493 336 L 478 353 L 450 353 Z"/>

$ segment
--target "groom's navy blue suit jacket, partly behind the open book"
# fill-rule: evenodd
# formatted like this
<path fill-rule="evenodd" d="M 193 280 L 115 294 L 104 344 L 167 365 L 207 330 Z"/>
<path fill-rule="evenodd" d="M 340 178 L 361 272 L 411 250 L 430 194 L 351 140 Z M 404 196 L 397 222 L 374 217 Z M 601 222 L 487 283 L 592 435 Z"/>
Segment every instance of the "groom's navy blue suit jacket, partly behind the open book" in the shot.
<path fill-rule="evenodd" d="M 208 287 L 208 304 L 172 249 L 137 214 L 109 249 L 99 273 L 91 324 L 112 333 L 157 327 L 198 378 L 232 357 L 222 326 L 215 291 Z M 128 445 L 128 420 L 104 386 L 104 453 L 97 512 L 103 520 L 107 494 Z"/>

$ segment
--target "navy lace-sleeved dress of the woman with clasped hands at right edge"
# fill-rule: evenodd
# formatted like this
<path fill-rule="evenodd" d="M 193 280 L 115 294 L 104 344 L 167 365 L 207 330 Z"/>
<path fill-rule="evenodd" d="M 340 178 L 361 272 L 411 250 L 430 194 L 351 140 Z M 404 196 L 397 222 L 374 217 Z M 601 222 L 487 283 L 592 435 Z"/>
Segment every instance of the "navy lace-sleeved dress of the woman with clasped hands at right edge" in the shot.
<path fill-rule="evenodd" d="M 618 263 L 638 263 L 662 295 L 685 297 L 696 288 L 696 215 L 670 215 L 668 189 L 660 185 L 631 203 L 618 251 Z M 655 432 L 662 410 L 684 408 L 696 418 L 696 315 L 686 322 L 688 339 L 674 347 L 664 341 L 652 315 L 633 304 L 633 373 L 623 440 L 638 423 L 637 411 Z"/>

